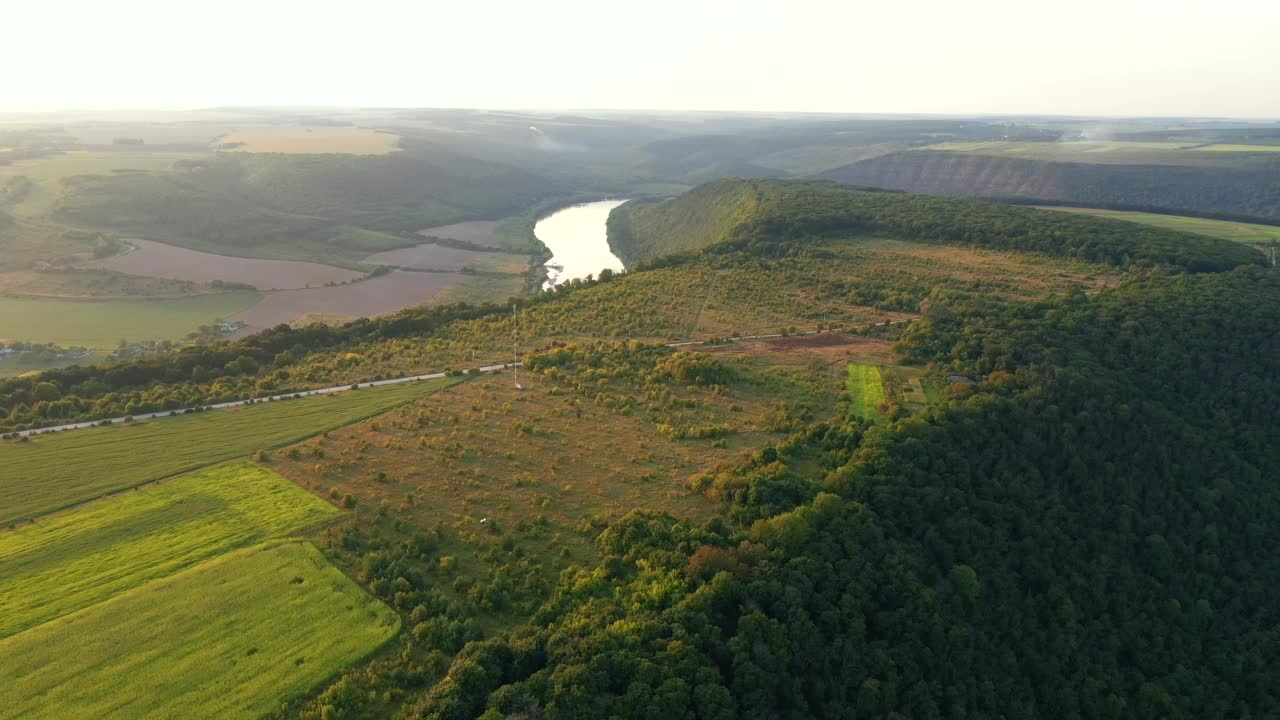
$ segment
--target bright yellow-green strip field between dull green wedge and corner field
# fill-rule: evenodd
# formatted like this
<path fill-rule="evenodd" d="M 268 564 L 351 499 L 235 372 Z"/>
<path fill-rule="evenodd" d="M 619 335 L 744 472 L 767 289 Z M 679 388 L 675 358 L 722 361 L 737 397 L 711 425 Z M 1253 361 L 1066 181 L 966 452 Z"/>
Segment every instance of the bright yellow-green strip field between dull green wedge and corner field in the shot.
<path fill-rule="evenodd" d="M 0 533 L 0 637 L 339 514 L 233 462 Z"/>

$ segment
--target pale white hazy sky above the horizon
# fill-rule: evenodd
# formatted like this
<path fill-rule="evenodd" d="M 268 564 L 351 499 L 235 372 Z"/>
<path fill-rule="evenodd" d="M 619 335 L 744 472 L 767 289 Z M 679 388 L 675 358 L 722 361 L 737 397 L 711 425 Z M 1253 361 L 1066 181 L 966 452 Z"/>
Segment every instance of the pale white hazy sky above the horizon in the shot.
<path fill-rule="evenodd" d="M 8 0 L 0 109 L 1280 118 L 1280 0 Z"/>

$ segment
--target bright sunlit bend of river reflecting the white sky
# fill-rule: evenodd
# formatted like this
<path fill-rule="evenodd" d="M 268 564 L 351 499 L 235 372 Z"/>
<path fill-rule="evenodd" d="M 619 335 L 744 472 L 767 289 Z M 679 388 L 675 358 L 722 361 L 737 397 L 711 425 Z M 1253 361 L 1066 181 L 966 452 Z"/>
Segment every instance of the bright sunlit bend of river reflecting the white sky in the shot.
<path fill-rule="evenodd" d="M 626 200 L 602 200 L 573 205 L 538 220 L 534 234 L 552 251 L 543 287 L 598 275 L 605 268 L 614 272 L 622 269 L 622 260 L 609 250 L 605 222 L 609 210 L 623 202 Z"/>

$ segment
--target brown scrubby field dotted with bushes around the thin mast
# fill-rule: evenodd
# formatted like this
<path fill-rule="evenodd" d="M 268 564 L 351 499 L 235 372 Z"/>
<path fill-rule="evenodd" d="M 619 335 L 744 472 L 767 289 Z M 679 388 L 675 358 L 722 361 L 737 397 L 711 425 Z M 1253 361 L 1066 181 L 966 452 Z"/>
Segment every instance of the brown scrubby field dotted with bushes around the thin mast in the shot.
<path fill-rule="evenodd" d="M 520 380 L 524 391 L 506 373 L 456 386 L 279 451 L 273 469 L 320 495 L 349 493 L 397 527 L 439 524 L 452 538 L 442 553 L 457 553 L 463 574 L 479 570 L 467 546 L 526 527 L 541 538 L 532 555 L 581 561 L 594 553 L 584 524 L 637 507 L 710 518 L 714 507 L 687 480 L 785 437 L 768 430 L 777 404 L 803 392 L 781 378 L 723 395 L 673 388 L 696 409 L 666 409 L 659 421 L 731 428 L 716 443 L 672 439 L 644 413 L 611 410 L 554 378 Z"/>

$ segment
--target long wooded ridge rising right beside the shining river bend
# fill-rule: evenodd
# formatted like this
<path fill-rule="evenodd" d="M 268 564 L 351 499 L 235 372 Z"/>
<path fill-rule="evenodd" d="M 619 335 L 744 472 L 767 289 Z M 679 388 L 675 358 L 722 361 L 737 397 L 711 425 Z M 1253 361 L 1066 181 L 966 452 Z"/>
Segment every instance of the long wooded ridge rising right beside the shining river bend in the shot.
<path fill-rule="evenodd" d="M 904 240 L 1028 250 L 1115 265 L 1193 272 L 1261 263 L 1224 240 L 1083 215 L 842 187 L 828 182 L 730 179 L 662 202 L 628 202 L 609 215 L 609 246 L 628 266 L 663 255 L 726 249 L 777 255 L 805 236 L 879 232 Z"/>

